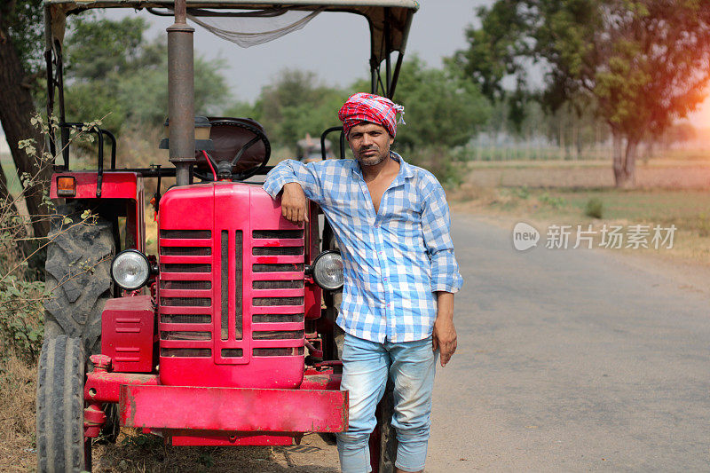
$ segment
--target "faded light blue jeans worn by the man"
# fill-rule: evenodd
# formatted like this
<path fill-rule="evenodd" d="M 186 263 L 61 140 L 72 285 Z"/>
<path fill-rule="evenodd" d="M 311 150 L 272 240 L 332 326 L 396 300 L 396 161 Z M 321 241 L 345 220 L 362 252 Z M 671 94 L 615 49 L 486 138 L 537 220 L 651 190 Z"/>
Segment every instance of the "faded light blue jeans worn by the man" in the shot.
<path fill-rule="evenodd" d="M 367 442 L 377 425 L 375 408 L 383 398 L 388 374 L 394 383 L 395 466 L 405 471 L 424 469 L 437 356 L 431 350 L 431 337 L 375 343 L 345 335 L 341 390 L 350 391 L 350 425 L 337 435 L 343 473 L 371 470 Z"/>

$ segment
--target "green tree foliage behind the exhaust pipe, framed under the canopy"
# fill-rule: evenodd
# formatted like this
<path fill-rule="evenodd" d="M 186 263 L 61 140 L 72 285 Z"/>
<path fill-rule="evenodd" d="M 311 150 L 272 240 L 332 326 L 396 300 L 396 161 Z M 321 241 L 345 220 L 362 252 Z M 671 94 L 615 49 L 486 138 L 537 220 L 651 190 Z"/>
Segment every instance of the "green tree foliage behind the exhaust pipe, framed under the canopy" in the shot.
<path fill-rule="evenodd" d="M 104 118 L 120 133 L 142 125 L 162 126 L 168 116 L 168 47 L 163 37 L 147 41 L 142 18 L 77 18 L 67 38 L 67 120 Z M 228 98 L 220 61 L 195 55 L 197 114 L 216 114 Z"/>

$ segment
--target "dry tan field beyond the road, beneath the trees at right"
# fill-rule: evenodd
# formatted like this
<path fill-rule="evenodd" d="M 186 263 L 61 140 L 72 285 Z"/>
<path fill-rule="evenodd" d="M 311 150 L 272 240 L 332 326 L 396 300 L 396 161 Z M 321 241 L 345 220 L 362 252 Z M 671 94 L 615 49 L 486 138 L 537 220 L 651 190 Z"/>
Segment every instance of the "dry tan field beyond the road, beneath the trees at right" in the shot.
<path fill-rule="evenodd" d="M 640 164 L 631 190 L 613 187 L 609 162 L 469 165 L 466 182 L 449 193 L 454 211 L 501 217 L 506 225 L 526 221 L 540 233 L 548 225 L 593 225 L 596 232 L 604 225 L 675 225 L 674 248 L 618 251 L 710 264 L 710 162 Z M 586 215 L 593 199 L 601 201 L 601 218 Z"/>

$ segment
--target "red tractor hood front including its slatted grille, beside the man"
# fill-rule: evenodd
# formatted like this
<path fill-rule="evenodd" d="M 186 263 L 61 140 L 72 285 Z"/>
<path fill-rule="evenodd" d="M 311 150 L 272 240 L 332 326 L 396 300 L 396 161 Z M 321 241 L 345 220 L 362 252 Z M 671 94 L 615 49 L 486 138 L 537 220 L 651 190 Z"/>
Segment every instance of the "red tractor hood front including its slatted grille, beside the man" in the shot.
<path fill-rule="evenodd" d="M 296 388 L 313 304 L 304 230 L 262 188 L 236 183 L 171 188 L 159 227 L 161 382 Z"/>

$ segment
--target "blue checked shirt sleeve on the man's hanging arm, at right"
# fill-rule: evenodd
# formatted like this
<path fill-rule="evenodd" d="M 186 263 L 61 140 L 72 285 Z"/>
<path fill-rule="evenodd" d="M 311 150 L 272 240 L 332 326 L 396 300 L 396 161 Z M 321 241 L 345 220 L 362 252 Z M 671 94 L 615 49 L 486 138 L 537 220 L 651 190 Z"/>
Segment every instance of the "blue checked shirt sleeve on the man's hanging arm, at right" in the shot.
<path fill-rule="evenodd" d="M 424 244 L 431 260 L 431 291 L 455 293 L 463 285 L 463 278 L 454 256 L 449 206 L 444 189 L 436 179 L 432 180 L 423 193 L 422 210 Z"/>

